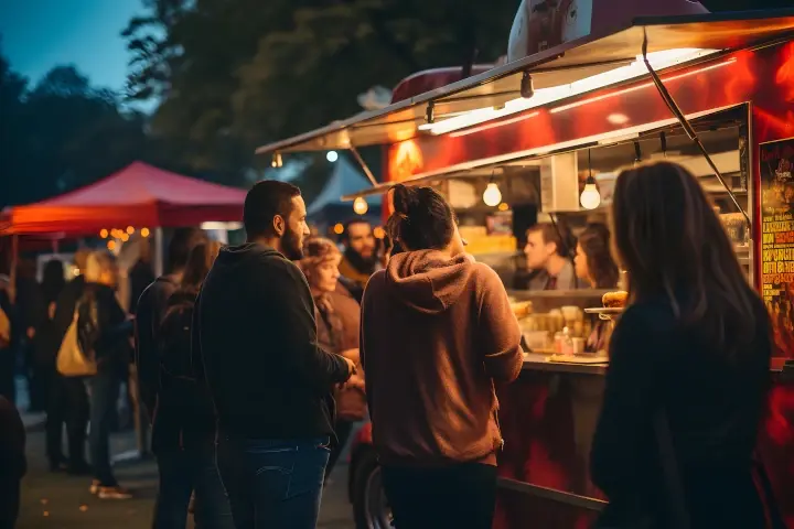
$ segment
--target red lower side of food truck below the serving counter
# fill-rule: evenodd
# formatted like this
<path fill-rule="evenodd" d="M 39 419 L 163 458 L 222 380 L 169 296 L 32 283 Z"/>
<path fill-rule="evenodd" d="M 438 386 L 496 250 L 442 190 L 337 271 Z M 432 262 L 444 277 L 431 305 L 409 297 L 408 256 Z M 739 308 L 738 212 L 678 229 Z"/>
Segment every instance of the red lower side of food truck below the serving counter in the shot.
<path fill-rule="evenodd" d="M 497 388 L 505 445 L 498 456 L 495 529 L 523 527 L 528 519 L 536 527 L 586 528 L 607 501 L 590 482 L 589 466 L 608 364 L 549 358 L 525 353 L 518 379 Z M 774 385 L 759 453 L 784 516 L 791 516 L 785 446 L 794 442 L 794 363 L 775 358 L 771 370 Z"/>

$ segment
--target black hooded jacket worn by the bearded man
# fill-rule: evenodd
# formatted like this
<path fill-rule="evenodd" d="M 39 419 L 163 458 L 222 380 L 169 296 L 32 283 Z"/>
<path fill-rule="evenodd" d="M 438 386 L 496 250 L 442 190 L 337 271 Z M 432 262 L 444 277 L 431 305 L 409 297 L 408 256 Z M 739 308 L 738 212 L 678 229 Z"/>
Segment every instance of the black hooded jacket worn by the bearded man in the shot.
<path fill-rule="evenodd" d="M 347 364 L 318 345 L 309 283 L 285 256 L 259 244 L 222 249 L 193 332 L 222 434 L 333 435 L 330 395 Z"/>

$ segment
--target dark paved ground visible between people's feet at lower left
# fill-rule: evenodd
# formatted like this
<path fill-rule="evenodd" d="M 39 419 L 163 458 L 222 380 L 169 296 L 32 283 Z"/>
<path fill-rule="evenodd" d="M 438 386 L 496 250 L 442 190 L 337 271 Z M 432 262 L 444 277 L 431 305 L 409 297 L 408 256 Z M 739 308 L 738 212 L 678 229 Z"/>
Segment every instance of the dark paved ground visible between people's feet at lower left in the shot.
<path fill-rule="evenodd" d="M 122 485 L 136 493 L 125 501 L 96 499 L 88 493 L 89 481 L 84 477 L 53 475 L 46 472 L 44 434 L 32 427 L 29 432 L 28 457 L 30 471 L 22 485 L 22 505 L 17 529 L 148 529 L 157 494 L 157 468 L 151 462 L 121 463 L 117 476 Z M 117 434 L 114 453 L 135 447 L 132 434 Z M 334 469 L 331 485 L 325 489 L 319 529 L 353 529 L 351 506 L 346 497 L 347 467 Z M 192 523 L 187 527 L 192 527 Z"/>

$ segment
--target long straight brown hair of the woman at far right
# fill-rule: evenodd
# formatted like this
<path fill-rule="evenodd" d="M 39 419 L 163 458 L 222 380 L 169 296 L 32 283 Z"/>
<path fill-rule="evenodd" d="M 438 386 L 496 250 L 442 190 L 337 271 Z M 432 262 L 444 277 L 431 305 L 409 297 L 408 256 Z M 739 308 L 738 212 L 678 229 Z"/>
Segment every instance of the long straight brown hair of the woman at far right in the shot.
<path fill-rule="evenodd" d="M 668 162 L 623 171 L 612 223 L 632 302 L 666 298 L 679 323 L 722 350 L 752 342 L 758 294 L 691 173 Z"/>

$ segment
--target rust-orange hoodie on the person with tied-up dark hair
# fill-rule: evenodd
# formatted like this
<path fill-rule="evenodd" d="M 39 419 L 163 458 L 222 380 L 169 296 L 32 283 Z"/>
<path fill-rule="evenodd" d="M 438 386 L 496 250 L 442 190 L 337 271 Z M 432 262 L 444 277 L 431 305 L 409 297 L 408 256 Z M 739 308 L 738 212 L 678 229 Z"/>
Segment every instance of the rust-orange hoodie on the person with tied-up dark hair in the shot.
<path fill-rule="evenodd" d="M 380 461 L 495 464 L 494 382 L 518 377 L 519 343 L 491 268 L 432 250 L 393 256 L 362 305 L 361 357 Z"/>

